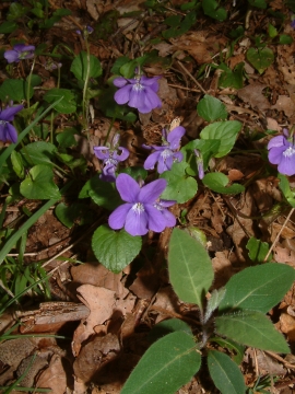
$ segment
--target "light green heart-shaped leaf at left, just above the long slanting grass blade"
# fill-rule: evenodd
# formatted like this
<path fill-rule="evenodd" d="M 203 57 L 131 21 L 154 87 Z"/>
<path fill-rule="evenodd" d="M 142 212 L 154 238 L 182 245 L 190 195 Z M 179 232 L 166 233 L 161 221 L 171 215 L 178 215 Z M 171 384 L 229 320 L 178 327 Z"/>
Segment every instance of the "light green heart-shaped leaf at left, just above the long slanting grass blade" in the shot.
<path fill-rule="evenodd" d="M 38 164 L 30 170 L 28 177 L 21 183 L 21 194 L 31 199 L 60 198 L 54 183 L 54 172 L 48 165 Z"/>

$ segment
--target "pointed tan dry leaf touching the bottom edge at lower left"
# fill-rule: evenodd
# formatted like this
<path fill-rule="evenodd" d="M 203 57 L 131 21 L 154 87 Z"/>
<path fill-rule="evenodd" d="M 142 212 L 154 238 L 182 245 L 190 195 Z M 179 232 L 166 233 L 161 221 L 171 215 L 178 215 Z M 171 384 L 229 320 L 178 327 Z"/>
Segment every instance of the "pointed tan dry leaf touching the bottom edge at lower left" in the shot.
<path fill-rule="evenodd" d="M 55 394 L 63 394 L 67 390 L 67 375 L 62 367 L 61 358 L 58 355 L 54 355 L 49 367 L 42 372 L 37 380 L 36 387 L 52 390 Z M 36 391 L 38 393 L 38 391 Z"/>

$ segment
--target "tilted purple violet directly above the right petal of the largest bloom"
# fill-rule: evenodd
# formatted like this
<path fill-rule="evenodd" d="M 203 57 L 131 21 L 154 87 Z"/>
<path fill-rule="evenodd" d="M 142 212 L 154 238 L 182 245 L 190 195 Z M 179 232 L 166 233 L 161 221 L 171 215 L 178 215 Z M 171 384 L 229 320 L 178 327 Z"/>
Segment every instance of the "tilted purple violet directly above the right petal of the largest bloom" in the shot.
<path fill-rule="evenodd" d="M 180 148 L 180 140 L 186 134 L 186 129 L 182 126 L 177 126 L 168 135 L 165 129 L 162 131 L 163 144 L 157 146 L 145 146 L 143 148 L 153 149 L 154 152 L 149 155 L 143 166 L 145 170 L 153 170 L 157 162 L 157 172 L 162 174 L 164 171 L 172 170 L 174 162 L 181 162 L 184 155 L 177 150 Z"/>

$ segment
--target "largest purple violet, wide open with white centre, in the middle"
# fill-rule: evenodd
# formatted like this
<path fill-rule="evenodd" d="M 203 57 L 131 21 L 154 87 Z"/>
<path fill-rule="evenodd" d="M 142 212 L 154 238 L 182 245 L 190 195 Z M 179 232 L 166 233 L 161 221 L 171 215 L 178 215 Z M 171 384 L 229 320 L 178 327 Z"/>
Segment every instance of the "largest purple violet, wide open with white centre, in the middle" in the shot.
<path fill-rule="evenodd" d="M 166 179 L 157 179 L 140 187 L 130 175 L 119 174 L 116 186 L 126 204 L 109 216 L 109 227 L 114 230 L 125 228 L 133 236 L 144 235 L 149 230 L 162 232 L 166 227 L 170 227 L 174 221 L 167 215 L 163 202 L 157 202 L 166 185 Z M 156 204 L 158 206 L 155 207 Z"/>

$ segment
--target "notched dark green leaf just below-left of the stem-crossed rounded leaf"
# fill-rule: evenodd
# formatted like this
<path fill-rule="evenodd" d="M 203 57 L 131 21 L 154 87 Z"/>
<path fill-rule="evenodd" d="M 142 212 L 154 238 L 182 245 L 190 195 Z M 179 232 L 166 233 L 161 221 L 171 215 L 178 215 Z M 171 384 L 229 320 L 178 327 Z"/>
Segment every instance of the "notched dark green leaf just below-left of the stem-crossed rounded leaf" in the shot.
<path fill-rule="evenodd" d="M 76 103 L 74 100 L 74 94 L 69 89 L 50 89 L 44 96 L 44 100 L 52 104 L 57 100 L 61 99 L 58 104 L 55 106 L 55 109 L 60 114 L 72 114 L 76 111 Z"/>

